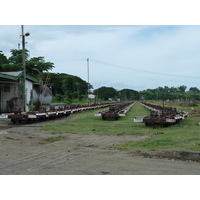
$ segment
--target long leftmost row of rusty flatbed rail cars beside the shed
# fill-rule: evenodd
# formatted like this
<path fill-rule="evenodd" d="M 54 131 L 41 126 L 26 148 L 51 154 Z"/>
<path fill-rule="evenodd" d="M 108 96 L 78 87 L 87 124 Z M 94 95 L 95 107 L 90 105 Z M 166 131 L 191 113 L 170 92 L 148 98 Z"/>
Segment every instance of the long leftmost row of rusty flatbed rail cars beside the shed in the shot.
<path fill-rule="evenodd" d="M 50 109 L 41 108 L 39 111 L 22 112 L 15 110 L 14 114 L 7 115 L 7 118 L 11 119 L 14 124 L 25 122 L 33 123 L 37 121 L 46 121 L 47 119 L 56 119 L 76 112 L 82 112 L 91 109 L 99 109 L 108 106 L 115 105 L 114 103 L 92 104 L 92 105 L 54 105 L 50 106 Z"/>

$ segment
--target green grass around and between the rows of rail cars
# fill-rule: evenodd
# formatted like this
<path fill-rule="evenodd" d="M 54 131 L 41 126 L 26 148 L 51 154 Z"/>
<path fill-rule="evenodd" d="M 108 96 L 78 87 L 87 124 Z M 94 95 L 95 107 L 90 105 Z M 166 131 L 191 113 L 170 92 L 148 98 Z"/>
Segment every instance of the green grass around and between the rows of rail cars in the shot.
<path fill-rule="evenodd" d="M 179 107 L 180 110 L 190 108 Z M 136 103 L 127 113 L 126 117 L 120 117 L 115 121 L 103 121 L 101 117 L 95 117 L 97 110 L 85 111 L 73 114 L 73 118 L 60 125 L 48 125 L 43 127 L 50 133 L 76 133 L 76 134 L 103 134 L 103 135 L 147 135 L 150 136 L 140 141 L 129 141 L 114 145 L 120 150 L 162 150 L 179 149 L 200 151 L 200 126 L 195 125 L 200 121 L 199 117 L 189 117 L 179 124 L 170 127 L 156 128 L 146 127 L 144 123 L 134 123 L 135 116 L 148 115 L 149 111 Z M 162 134 L 158 134 L 162 133 Z"/>

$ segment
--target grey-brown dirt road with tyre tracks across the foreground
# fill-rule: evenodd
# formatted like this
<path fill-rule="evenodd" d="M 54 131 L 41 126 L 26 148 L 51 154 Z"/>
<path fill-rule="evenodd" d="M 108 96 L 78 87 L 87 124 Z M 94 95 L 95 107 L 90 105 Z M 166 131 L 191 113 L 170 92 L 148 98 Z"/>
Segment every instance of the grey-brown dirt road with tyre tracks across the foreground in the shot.
<path fill-rule="evenodd" d="M 70 119 L 71 116 L 68 117 Z M 200 163 L 133 156 L 112 149 L 124 141 L 145 136 L 62 134 L 66 138 L 47 143 L 53 136 L 39 128 L 62 120 L 14 126 L 0 123 L 0 174 L 41 175 L 186 175 L 200 174 Z M 57 135 L 56 135 L 57 136 Z"/>

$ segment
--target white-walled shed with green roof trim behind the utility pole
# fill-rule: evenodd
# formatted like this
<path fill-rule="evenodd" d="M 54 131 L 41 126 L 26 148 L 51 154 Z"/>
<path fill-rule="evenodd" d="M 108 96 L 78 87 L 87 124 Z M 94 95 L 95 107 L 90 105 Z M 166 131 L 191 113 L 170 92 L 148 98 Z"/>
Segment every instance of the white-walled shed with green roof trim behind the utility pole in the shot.
<path fill-rule="evenodd" d="M 0 112 L 12 112 L 14 108 L 23 110 L 23 71 L 0 72 Z M 31 101 L 33 84 L 38 80 L 29 75 L 26 76 L 26 111 Z"/>

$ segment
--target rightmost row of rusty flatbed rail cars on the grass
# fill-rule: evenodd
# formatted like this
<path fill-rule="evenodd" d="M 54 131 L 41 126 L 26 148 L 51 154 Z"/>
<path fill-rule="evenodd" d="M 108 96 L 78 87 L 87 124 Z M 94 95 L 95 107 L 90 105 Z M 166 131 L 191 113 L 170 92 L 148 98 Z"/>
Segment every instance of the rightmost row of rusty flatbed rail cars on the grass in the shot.
<path fill-rule="evenodd" d="M 141 103 L 144 107 L 151 111 L 149 116 L 144 116 L 141 120 L 135 117 L 135 122 L 144 122 L 146 126 L 170 126 L 178 123 L 180 120 L 188 116 L 185 111 L 177 111 L 176 108 L 162 107 L 153 104 Z"/>

